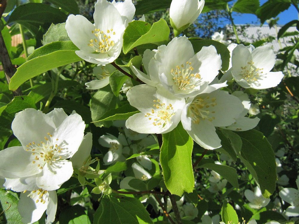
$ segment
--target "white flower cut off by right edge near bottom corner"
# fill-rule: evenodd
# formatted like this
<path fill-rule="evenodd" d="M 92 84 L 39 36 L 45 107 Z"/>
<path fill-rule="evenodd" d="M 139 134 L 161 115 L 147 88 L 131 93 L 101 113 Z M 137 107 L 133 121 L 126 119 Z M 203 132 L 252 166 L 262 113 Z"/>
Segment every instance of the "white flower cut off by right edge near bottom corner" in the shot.
<path fill-rule="evenodd" d="M 297 188 L 299 189 L 299 176 L 296 180 Z M 291 204 L 286 209 L 286 215 L 287 216 L 299 216 L 299 190 L 296 190 L 294 188 L 283 188 L 279 192 L 279 196 L 282 200 L 285 202 L 288 202 Z"/>

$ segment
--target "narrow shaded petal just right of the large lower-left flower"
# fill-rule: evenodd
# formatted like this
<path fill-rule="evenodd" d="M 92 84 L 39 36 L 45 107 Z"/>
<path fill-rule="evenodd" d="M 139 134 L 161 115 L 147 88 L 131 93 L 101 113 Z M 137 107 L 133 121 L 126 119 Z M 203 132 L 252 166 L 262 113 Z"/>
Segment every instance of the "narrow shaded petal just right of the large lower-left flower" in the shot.
<path fill-rule="evenodd" d="M 89 132 L 84 137 L 78 151 L 71 157 L 70 161 L 74 168 L 80 168 L 83 162 L 89 157 L 92 147 L 92 134 Z"/>

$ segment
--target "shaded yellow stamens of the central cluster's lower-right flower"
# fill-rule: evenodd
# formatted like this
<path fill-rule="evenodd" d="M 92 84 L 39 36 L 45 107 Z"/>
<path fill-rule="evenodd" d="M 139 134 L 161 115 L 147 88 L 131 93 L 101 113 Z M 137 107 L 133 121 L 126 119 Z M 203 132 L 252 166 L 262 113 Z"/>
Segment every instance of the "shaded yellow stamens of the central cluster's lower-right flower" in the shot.
<path fill-rule="evenodd" d="M 210 99 L 209 96 L 205 97 L 204 99 L 198 97 L 197 99 L 193 100 L 188 108 L 188 111 L 195 124 L 199 124 L 200 118 L 203 120 L 208 119 L 209 121 L 213 121 L 215 119 L 215 117 L 212 116 L 215 111 L 211 111 L 211 107 L 217 105 L 215 101 L 215 97 Z"/>

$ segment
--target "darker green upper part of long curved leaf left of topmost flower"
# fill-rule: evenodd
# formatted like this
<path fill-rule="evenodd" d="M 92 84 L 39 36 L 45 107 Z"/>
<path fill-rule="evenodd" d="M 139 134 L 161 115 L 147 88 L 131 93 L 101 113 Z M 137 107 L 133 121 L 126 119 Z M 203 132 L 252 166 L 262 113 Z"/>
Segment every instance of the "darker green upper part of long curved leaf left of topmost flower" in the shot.
<path fill-rule="evenodd" d="M 39 47 L 28 56 L 28 60 L 53 53 L 58 50 L 79 50 L 71 41 L 51 42 L 45 46 Z"/>

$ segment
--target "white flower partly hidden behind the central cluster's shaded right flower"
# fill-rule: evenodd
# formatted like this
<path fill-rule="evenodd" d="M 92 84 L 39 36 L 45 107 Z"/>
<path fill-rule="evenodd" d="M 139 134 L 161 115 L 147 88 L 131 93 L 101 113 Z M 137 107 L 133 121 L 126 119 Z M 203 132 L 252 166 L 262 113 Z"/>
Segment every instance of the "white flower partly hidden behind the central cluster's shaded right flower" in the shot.
<path fill-rule="evenodd" d="M 246 93 L 243 93 L 242 91 L 235 91 L 234 93 L 232 93 L 232 95 L 237 96 L 239 100 L 241 100 L 244 106 L 244 110 L 241 114 L 239 114 L 238 117 L 235 118 L 235 122 L 233 124 L 222 128 L 232 131 L 247 131 L 257 126 L 260 121 L 258 117 L 255 117 L 253 119 L 245 117 L 251 105 L 250 100 L 248 99 L 248 95 Z"/>

